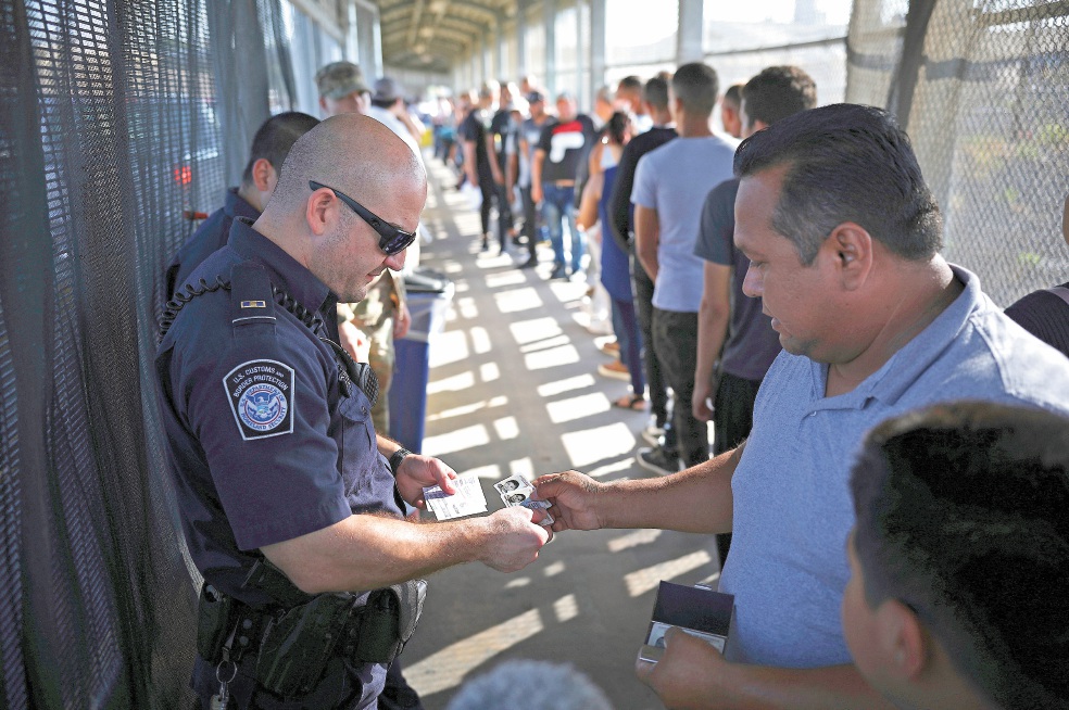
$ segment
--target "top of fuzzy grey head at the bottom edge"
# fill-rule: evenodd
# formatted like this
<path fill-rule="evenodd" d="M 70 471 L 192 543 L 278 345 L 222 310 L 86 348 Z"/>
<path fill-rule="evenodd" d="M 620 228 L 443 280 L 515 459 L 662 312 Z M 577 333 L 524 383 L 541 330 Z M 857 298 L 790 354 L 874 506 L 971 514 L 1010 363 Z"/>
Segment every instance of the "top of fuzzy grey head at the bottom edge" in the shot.
<path fill-rule="evenodd" d="M 575 667 L 505 661 L 464 683 L 445 710 L 613 710 L 608 698 Z"/>

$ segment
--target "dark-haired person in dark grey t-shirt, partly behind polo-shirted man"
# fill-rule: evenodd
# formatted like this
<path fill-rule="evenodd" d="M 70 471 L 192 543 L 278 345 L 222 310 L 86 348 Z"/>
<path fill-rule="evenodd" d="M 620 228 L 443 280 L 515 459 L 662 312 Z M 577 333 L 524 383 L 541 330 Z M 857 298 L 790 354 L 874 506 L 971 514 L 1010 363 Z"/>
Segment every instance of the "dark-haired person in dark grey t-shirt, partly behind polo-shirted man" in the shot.
<path fill-rule="evenodd" d="M 780 118 L 816 105 L 817 85 L 808 74 L 796 66 L 770 66 L 742 89 L 743 132 L 749 138 Z M 713 419 L 714 456 L 734 448 L 750 435 L 757 389 L 780 352 L 771 318 L 762 313 L 759 301 L 747 299 L 743 292 L 750 261 L 732 241 L 738 193 L 738 178 L 709 192 L 694 246 L 705 270 L 691 408 L 695 419 Z M 731 535 L 717 535 L 716 546 L 724 567 Z"/>

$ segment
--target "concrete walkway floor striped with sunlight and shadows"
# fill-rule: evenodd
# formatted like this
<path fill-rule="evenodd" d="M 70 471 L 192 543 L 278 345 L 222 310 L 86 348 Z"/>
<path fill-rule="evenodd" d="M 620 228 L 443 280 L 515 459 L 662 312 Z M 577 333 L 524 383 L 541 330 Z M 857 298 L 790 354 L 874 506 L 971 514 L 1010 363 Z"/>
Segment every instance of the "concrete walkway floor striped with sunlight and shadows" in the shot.
<path fill-rule="evenodd" d="M 479 477 L 491 511 L 502 506 L 493 482 L 513 473 L 649 476 L 633 462 L 647 415 L 611 404 L 627 383 L 596 372 L 609 360 L 581 325 L 586 284 L 548 281 L 544 246 L 534 269 L 516 268 L 496 245 L 480 254 L 478 213 L 440 162 L 427 163 L 425 224 L 435 241 L 420 264 L 449 275 L 456 292 L 445 331 L 430 345 L 424 453 Z M 561 533 L 515 574 L 475 563 L 432 575 L 419 630 L 401 657 L 404 674 L 435 710 L 466 677 L 505 659 L 569 662 L 617 710 L 662 708 L 633 673 L 657 584 L 717 576 L 712 536 Z"/>

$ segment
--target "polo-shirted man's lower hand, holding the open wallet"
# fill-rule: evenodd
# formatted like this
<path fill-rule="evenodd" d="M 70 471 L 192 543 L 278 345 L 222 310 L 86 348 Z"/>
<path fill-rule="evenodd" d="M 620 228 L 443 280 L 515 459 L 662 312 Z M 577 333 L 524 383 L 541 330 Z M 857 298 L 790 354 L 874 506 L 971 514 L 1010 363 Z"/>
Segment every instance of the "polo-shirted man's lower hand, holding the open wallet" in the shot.
<path fill-rule="evenodd" d="M 730 663 L 720 651 L 679 629 L 665 634 L 665 655 L 657 663 L 641 658 L 634 674 L 661 697 L 666 708 L 730 707 Z"/>

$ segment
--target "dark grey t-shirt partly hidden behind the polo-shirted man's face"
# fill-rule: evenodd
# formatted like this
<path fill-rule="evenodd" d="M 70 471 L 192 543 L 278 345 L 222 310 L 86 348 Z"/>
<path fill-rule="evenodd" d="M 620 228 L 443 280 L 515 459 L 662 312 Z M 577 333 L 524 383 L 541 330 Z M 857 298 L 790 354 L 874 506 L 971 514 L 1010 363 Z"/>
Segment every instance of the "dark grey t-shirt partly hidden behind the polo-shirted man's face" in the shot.
<path fill-rule="evenodd" d="M 742 292 L 750 259 L 734 248 L 734 199 L 739 178 L 713 188 L 702 207 L 702 221 L 694 255 L 706 262 L 732 267 L 731 327 L 724 344 L 720 366 L 725 372 L 745 380 L 760 380 L 779 355 L 779 333 L 772 318 L 760 310 L 760 299 Z"/>

